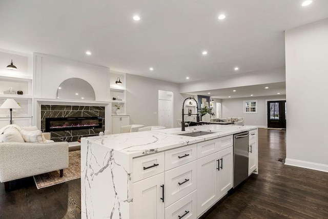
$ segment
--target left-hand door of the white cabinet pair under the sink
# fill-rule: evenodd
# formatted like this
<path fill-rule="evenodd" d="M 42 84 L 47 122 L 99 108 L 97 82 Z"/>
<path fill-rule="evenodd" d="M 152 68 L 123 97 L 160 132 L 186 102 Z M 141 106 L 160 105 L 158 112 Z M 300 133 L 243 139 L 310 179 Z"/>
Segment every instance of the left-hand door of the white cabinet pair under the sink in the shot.
<path fill-rule="evenodd" d="M 197 215 L 199 216 L 218 199 L 218 152 L 197 160 Z"/>

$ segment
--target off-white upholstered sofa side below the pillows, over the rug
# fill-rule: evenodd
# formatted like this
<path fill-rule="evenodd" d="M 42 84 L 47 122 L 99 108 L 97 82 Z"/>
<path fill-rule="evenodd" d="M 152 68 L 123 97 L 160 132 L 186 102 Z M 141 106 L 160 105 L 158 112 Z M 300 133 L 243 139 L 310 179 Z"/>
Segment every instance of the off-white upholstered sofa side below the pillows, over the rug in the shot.
<path fill-rule="evenodd" d="M 67 167 L 67 142 L 0 143 L 0 182 Z"/>

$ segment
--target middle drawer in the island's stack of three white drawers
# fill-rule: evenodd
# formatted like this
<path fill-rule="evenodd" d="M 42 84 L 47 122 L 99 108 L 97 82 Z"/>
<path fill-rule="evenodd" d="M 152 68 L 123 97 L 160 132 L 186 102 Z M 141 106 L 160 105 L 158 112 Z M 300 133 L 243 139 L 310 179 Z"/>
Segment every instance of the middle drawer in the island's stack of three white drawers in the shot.
<path fill-rule="evenodd" d="M 165 207 L 197 188 L 197 161 L 165 172 Z"/>

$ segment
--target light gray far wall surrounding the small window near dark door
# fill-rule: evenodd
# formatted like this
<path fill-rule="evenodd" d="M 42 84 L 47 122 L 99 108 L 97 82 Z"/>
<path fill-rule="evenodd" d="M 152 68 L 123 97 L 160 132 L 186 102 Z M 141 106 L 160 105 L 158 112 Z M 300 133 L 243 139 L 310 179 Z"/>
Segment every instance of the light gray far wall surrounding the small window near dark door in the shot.
<path fill-rule="evenodd" d="M 222 118 L 228 117 L 243 117 L 244 125 L 252 125 L 257 127 L 267 127 L 267 101 L 283 101 L 285 95 L 277 96 L 258 96 L 251 98 L 232 98 L 222 99 Z M 257 113 L 243 113 L 244 101 L 257 101 Z"/>

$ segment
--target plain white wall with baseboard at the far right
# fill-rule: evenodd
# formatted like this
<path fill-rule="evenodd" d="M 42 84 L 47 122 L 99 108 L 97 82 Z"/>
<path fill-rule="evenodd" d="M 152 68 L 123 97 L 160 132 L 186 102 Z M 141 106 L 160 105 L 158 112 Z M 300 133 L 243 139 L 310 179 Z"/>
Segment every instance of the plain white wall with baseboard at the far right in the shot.
<path fill-rule="evenodd" d="M 286 164 L 328 172 L 328 19 L 285 31 Z"/>

